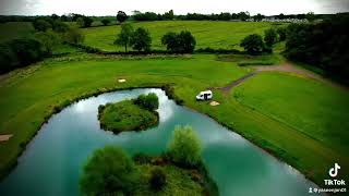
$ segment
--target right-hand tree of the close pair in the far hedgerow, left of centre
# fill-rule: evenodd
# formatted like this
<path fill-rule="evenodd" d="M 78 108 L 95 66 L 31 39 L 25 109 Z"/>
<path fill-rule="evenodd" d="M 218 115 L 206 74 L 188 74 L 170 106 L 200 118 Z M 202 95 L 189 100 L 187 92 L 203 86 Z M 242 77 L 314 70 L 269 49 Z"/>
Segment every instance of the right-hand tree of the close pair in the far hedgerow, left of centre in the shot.
<path fill-rule="evenodd" d="M 139 27 L 132 35 L 131 38 L 132 48 L 139 51 L 149 51 L 152 45 L 152 37 L 149 32 Z"/>

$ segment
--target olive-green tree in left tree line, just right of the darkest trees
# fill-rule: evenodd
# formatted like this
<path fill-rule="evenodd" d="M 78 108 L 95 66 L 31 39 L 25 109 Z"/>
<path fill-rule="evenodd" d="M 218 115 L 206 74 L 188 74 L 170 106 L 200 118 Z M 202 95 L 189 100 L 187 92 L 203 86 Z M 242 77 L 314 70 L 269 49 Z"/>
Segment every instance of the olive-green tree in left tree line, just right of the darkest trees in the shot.
<path fill-rule="evenodd" d="M 60 36 L 52 30 L 38 32 L 35 34 L 35 38 L 41 44 L 43 50 L 49 56 L 61 44 Z"/>

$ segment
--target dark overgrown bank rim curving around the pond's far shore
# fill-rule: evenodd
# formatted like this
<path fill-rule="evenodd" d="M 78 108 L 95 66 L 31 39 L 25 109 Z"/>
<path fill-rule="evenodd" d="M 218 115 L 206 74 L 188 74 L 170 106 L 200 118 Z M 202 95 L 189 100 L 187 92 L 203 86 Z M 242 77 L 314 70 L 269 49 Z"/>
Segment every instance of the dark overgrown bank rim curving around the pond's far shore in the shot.
<path fill-rule="evenodd" d="M 173 100 L 177 105 L 185 107 L 186 109 L 190 109 L 191 111 L 194 111 L 194 112 L 197 112 L 197 113 L 201 113 L 201 114 L 208 117 L 210 120 L 213 120 L 213 121 L 217 122 L 218 124 L 225 126 L 226 128 L 239 134 L 241 137 L 243 137 L 244 139 L 249 140 L 250 143 L 252 143 L 253 145 L 258 147 L 263 152 L 276 158 L 277 160 L 281 161 L 282 163 L 287 163 L 288 166 L 292 167 L 293 169 L 296 169 L 297 172 L 299 172 L 301 175 L 303 175 L 306 180 L 310 180 L 314 184 L 318 185 L 317 182 L 315 181 L 315 179 L 312 177 L 312 175 L 310 175 L 309 173 L 302 172 L 300 170 L 300 168 L 298 168 L 296 164 L 293 164 L 290 157 L 285 156 L 286 154 L 280 154 L 277 150 L 274 150 L 277 147 L 270 145 L 266 140 L 263 140 L 263 143 L 264 143 L 264 145 L 263 145 L 261 142 L 256 140 L 255 138 L 245 135 L 243 132 L 239 132 L 239 130 L 233 127 L 232 124 L 228 124 L 222 121 L 219 121 L 218 119 L 216 119 L 215 117 L 213 117 L 212 114 L 209 114 L 207 112 L 197 111 L 189 106 L 185 106 L 184 100 L 176 95 L 173 85 L 174 85 L 173 83 L 154 83 L 154 84 L 140 85 L 136 87 L 132 86 L 132 87 L 98 88 L 95 91 L 82 94 L 81 96 L 73 97 L 71 99 L 67 99 L 67 100 L 60 102 L 59 105 L 53 106 L 51 111 L 47 115 L 44 117 L 44 121 L 38 125 L 36 132 L 34 134 L 32 134 L 26 140 L 24 140 L 20 144 L 21 149 L 20 149 L 19 154 L 13 159 L 11 159 L 4 168 L 0 169 L 0 181 L 5 179 L 10 174 L 10 172 L 17 166 L 17 160 L 23 155 L 23 152 L 26 150 L 26 147 L 29 144 L 29 142 L 39 133 L 41 127 L 49 121 L 49 119 L 51 119 L 55 114 L 61 112 L 64 108 L 69 107 L 70 105 L 76 103 L 80 100 L 84 100 L 84 99 L 87 99 L 91 97 L 97 97 L 101 94 L 111 93 L 111 91 L 132 90 L 132 89 L 140 89 L 140 88 L 159 88 L 165 91 L 168 99 Z M 273 147 L 274 147 L 274 149 L 273 149 Z M 280 151 L 285 152 L 285 150 L 280 150 Z"/>

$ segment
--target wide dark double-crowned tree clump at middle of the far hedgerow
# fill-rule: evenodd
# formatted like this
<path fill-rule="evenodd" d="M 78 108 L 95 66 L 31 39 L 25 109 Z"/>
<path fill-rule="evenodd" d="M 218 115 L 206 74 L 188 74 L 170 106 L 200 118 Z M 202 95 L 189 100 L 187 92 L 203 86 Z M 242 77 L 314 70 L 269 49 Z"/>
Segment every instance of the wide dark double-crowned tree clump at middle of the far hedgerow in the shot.
<path fill-rule="evenodd" d="M 161 38 L 163 45 L 166 45 L 167 50 L 177 53 L 192 53 L 196 41 L 190 32 L 182 30 L 179 34 L 167 33 Z"/>

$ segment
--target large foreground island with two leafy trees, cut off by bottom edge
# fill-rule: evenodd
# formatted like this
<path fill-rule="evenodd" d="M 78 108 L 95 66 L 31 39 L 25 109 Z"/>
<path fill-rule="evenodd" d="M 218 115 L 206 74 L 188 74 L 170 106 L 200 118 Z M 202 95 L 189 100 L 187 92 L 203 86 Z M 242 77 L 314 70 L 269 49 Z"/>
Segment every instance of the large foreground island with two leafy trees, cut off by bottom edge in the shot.
<path fill-rule="evenodd" d="M 131 157 L 118 146 L 97 149 L 80 176 L 82 195 L 218 196 L 202 159 L 202 145 L 190 126 L 177 126 L 166 151 Z"/>

